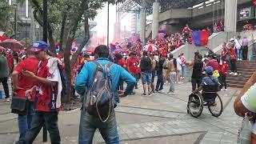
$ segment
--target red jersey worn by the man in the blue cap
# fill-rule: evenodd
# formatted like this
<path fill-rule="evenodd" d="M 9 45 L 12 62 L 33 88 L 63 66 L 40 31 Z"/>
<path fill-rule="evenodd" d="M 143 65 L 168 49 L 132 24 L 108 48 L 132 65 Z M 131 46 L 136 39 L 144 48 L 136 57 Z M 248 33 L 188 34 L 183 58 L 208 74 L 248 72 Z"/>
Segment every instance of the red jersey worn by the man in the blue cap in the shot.
<path fill-rule="evenodd" d="M 53 74 L 50 74 L 49 67 L 47 66 L 49 59 L 45 59 L 39 63 L 38 77 L 47 78 L 50 81 L 57 82 L 60 78 L 58 67 L 54 70 Z M 40 111 L 59 111 L 60 107 L 57 107 L 57 95 L 58 84 L 56 86 L 47 86 L 42 83 L 38 83 L 38 94 L 36 95 L 36 110 Z"/>

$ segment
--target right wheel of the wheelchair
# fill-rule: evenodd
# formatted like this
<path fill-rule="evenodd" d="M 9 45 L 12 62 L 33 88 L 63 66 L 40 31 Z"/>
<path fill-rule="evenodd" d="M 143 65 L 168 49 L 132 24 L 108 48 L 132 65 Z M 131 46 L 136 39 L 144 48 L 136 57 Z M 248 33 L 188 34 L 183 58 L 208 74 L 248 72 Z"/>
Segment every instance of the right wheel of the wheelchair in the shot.
<path fill-rule="evenodd" d="M 214 117 L 219 117 L 222 114 L 223 103 L 222 98 L 218 94 L 215 98 L 215 102 L 208 104 L 208 109 L 210 114 L 212 114 Z"/>

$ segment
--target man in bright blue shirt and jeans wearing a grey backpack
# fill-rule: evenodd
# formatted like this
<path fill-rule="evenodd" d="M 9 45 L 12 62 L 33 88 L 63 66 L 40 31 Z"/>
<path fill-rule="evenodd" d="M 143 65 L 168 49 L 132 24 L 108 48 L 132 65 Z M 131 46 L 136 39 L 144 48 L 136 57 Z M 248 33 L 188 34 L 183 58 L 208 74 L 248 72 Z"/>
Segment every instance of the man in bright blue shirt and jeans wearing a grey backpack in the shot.
<path fill-rule="evenodd" d="M 78 94 L 86 95 L 82 98 L 79 144 L 91 144 L 96 129 L 106 143 L 119 143 L 114 113 L 118 103 L 118 82 L 122 79 L 127 83 L 124 92 L 127 95 L 134 89 L 136 79 L 122 66 L 110 62 L 108 57 L 109 48 L 97 46 L 94 50 L 95 61 L 87 62 L 76 78 L 75 89 Z"/>

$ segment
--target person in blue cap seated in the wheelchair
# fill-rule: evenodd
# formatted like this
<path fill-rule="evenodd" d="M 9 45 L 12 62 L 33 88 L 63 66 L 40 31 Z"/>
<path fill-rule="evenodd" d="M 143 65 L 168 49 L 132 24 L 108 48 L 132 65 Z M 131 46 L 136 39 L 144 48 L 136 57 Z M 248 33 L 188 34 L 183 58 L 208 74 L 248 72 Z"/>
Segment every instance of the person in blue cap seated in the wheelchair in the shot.
<path fill-rule="evenodd" d="M 218 92 L 218 78 L 213 77 L 214 69 L 211 66 L 205 67 L 206 77 L 202 78 L 201 85 L 193 93 L 202 90 L 202 98 L 205 102 L 214 103 Z"/>

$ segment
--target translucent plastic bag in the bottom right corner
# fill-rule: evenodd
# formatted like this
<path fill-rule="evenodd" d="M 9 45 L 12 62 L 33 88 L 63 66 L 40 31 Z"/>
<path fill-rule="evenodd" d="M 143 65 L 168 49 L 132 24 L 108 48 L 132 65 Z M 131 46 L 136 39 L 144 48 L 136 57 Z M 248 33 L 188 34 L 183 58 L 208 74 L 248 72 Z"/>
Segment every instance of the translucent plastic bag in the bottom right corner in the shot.
<path fill-rule="evenodd" d="M 250 144 L 252 125 L 249 121 L 248 115 L 242 120 L 242 126 L 238 130 L 238 144 Z"/>

